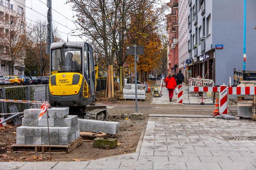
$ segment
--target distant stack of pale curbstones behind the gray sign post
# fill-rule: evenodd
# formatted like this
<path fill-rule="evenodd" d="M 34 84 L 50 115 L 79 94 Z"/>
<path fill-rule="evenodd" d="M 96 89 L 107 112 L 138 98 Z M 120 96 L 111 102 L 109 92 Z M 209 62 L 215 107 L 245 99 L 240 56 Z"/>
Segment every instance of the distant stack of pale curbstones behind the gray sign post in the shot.
<path fill-rule="evenodd" d="M 137 98 L 145 100 L 145 90 L 143 85 L 137 84 Z M 125 99 L 135 99 L 135 84 L 125 84 L 123 89 L 123 98 Z"/>

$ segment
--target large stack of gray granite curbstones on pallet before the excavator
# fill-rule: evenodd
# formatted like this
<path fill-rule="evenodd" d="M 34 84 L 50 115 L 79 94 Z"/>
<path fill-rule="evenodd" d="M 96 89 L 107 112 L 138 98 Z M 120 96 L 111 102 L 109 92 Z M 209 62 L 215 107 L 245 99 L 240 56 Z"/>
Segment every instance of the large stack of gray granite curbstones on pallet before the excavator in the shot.
<path fill-rule="evenodd" d="M 17 144 L 49 145 L 47 114 L 38 120 L 40 109 L 24 110 L 22 126 L 17 128 Z M 67 145 L 79 138 L 77 115 L 68 115 L 69 108 L 49 109 L 49 136 L 51 145 Z"/>

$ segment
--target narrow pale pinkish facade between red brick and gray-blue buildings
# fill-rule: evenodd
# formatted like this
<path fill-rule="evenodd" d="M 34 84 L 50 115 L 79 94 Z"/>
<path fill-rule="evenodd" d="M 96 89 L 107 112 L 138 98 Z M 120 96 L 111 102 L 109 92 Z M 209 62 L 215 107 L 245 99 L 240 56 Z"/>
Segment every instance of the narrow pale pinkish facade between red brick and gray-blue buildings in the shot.
<path fill-rule="evenodd" d="M 188 58 L 187 29 L 188 29 L 188 0 L 179 1 L 179 70 L 185 75 L 187 70 L 185 60 Z M 185 68 L 184 68 L 185 66 Z"/>

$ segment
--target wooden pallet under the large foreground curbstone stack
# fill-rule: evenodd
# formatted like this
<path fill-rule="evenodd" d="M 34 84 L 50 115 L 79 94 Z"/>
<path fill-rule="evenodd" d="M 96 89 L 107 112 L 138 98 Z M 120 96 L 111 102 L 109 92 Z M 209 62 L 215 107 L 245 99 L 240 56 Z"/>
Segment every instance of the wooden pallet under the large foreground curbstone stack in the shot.
<path fill-rule="evenodd" d="M 83 138 L 79 137 L 68 145 L 51 145 L 51 153 L 69 153 L 83 143 Z M 49 145 L 12 145 L 12 152 L 23 153 L 50 153 Z"/>

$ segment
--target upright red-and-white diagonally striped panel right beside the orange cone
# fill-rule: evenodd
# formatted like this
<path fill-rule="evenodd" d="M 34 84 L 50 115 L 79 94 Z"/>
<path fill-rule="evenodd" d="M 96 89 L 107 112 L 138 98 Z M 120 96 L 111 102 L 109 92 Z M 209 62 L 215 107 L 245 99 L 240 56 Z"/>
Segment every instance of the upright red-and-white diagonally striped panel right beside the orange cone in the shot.
<path fill-rule="evenodd" d="M 228 100 L 227 100 L 227 94 L 228 94 L 228 86 L 222 85 L 220 87 L 219 91 L 219 113 L 227 114 L 227 106 L 228 106 Z"/>

